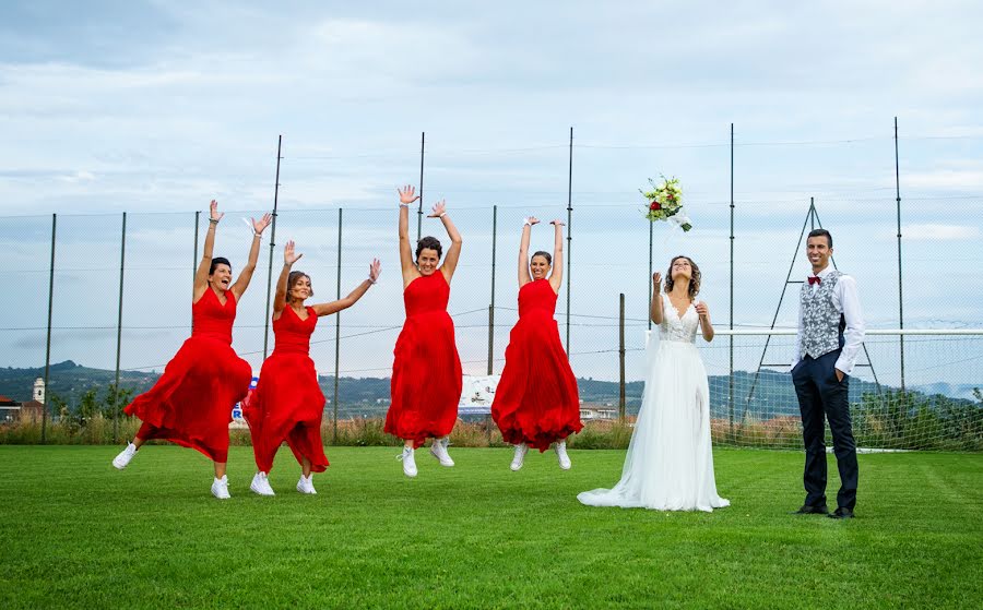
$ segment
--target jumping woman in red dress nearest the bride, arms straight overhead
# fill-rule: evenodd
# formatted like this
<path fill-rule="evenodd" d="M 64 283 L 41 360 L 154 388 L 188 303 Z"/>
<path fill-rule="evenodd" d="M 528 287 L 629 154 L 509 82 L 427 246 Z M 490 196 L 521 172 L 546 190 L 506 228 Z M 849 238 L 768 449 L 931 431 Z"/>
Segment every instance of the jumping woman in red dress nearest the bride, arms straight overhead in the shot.
<path fill-rule="evenodd" d="M 555 444 L 560 468 L 570 469 L 567 436 L 580 432 L 577 379 L 559 339 L 553 314 L 564 278 L 564 223 L 553 220 L 553 258 L 536 252 L 529 261 L 529 236 L 536 218 L 526 218 L 519 247 L 519 322 L 509 335 L 506 366 L 495 391 L 492 418 L 507 443 L 516 445 L 512 470 L 522 468 L 529 447 Z M 553 273 L 549 274 L 550 265 Z M 547 278 L 547 274 L 549 277 Z"/>

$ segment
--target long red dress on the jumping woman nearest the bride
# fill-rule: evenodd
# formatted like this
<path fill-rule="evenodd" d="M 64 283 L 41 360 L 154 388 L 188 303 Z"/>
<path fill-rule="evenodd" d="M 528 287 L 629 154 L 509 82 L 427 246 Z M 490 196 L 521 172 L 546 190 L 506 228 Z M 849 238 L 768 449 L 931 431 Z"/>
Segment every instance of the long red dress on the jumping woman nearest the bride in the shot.
<path fill-rule="evenodd" d="M 541 452 L 583 428 L 577 379 L 559 340 L 555 311 L 556 292 L 548 280 L 530 282 L 519 290 L 519 322 L 509 335 L 492 403 L 502 439 Z"/>

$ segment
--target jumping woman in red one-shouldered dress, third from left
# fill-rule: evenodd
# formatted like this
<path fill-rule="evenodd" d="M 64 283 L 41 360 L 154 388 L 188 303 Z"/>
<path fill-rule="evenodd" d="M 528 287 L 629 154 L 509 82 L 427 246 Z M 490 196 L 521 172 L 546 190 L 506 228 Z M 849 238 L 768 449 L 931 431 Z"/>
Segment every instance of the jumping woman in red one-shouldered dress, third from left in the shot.
<path fill-rule="evenodd" d="M 430 218 L 439 218 L 451 246 L 439 267 L 441 246 L 433 237 L 410 249 L 410 204 L 419 199 L 414 188 L 400 189 L 400 262 L 406 322 L 396 339 L 386 432 L 403 439 L 403 474 L 416 476 L 414 451 L 433 436 L 430 453 L 441 466 L 453 466 L 447 453 L 448 435 L 458 420 L 461 399 L 461 359 L 454 345 L 454 323 L 447 313 L 450 280 L 461 256 L 461 235 L 451 223 L 443 201 Z"/>

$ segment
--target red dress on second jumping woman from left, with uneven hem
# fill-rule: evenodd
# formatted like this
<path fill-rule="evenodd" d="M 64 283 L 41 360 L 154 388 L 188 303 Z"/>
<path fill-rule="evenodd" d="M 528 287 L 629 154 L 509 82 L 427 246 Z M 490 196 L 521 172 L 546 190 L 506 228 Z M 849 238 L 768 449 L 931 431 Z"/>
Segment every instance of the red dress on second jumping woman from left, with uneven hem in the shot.
<path fill-rule="evenodd" d="M 317 324 L 312 307 L 307 308 L 307 320 L 300 320 L 287 306 L 273 321 L 276 345 L 263 362 L 256 392 L 242 408 L 261 473 L 273 467 L 273 456 L 284 441 L 297 463 L 303 464 L 307 457 L 311 471 L 323 473 L 328 467 L 321 443 L 324 394 L 310 359 L 310 335 Z"/>

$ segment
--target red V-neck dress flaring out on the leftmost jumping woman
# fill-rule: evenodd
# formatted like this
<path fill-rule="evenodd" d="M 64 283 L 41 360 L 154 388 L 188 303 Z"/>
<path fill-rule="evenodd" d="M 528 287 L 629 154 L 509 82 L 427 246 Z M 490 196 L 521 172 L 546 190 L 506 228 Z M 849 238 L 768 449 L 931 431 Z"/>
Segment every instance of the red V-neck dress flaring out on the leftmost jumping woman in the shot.
<path fill-rule="evenodd" d="M 249 391 L 252 368 L 232 348 L 236 297 L 225 304 L 209 287 L 191 306 L 191 338 L 186 340 L 147 392 L 125 411 L 143 420 L 137 436 L 163 439 L 191 447 L 214 462 L 228 458 L 233 406 Z"/>

